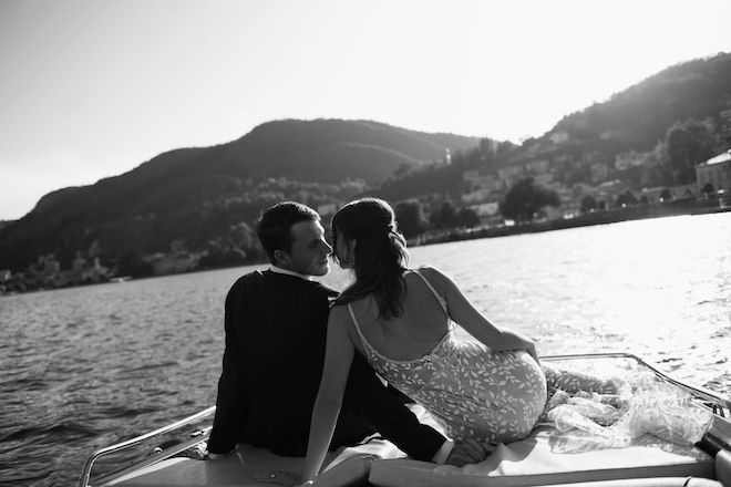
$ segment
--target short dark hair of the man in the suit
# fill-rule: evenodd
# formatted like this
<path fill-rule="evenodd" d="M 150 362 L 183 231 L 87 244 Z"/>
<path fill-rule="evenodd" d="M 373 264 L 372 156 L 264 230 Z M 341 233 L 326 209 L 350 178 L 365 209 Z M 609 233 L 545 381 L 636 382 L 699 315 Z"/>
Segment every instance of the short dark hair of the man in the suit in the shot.
<path fill-rule="evenodd" d="M 291 228 L 300 221 L 320 221 L 320 216 L 309 206 L 297 201 L 278 203 L 259 216 L 257 235 L 269 262 L 277 265 L 275 250 L 291 252 L 295 241 Z"/>

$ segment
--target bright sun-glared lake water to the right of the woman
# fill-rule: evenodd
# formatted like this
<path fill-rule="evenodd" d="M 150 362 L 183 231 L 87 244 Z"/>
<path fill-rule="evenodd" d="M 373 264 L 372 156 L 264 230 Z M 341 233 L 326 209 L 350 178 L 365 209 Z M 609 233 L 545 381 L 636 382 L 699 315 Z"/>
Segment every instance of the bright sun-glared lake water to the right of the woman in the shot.
<path fill-rule="evenodd" d="M 688 372 L 731 344 L 731 216 L 683 216 L 412 249 L 538 352 L 630 351 Z M 722 339 L 722 340 L 718 340 Z M 706 366 L 700 365 L 701 367 Z"/>

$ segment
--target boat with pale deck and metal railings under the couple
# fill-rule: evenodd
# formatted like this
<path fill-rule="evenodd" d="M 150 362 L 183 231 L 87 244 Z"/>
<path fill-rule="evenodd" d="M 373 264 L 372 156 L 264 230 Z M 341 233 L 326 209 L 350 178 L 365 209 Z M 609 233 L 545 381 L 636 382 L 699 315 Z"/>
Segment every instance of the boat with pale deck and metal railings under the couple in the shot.
<path fill-rule="evenodd" d="M 665 390 L 688 397 L 692 406 L 688 416 L 699 412 L 708 417 L 702 436 L 687 444 L 673 438 L 668 441 L 661 433 L 677 433 L 677 428 L 672 431 L 665 425 L 669 417 L 656 419 L 660 433 L 642 432 L 631 439 L 612 442 L 606 442 L 606 438 L 590 432 L 559 431 L 556 425 L 539 424 L 527 438 L 507 445 L 498 444 L 484 462 L 463 467 L 437 466 L 408 458 L 393 444 L 374 436 L 362 445 L 331 452 L 315 485 L 731 487 L 731 397 L 672 379 L 657 365 L 630 353 L 540 359 L 562 366 L 569 364 L 576 370 L 595 367 L 609 371 L 607 373 L 631 371 L 632 374 L 647 374 Z M 410 407 L 420 421 L 439 427 L 421 406 Z M 663 415 L 672 415 L 669 411 L 658 410 Z M 222 459 L 207 460 L 204 454 L 210 426 L 194 425 L 210 423 L 214 412 L 215 406 L 208 407 L 159 429 L 95 450 L 84 463 L 78 487 L 261 486 L 262 481 L 276 483 L 280 473 L 301 472 L 303 458 L 280 457 L 251 445 L 239 445 L 233 454 Z M 159 446 L 150 456 L 121 470 L 92 479 L 92 470 L 102 457 L 140 447 L 186 427 L 194 428 L 187 439 Z"/>

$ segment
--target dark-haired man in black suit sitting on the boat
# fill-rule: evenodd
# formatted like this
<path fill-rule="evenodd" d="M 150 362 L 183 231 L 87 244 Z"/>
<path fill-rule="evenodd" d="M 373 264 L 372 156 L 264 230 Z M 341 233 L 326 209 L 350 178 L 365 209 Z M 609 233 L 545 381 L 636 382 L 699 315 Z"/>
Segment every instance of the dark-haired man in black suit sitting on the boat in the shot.
<path fill-rule="evenodd" d="M 241 277 L 226 298 L 226 350 L 210 458 L 248 442 L 285 456 L 307 452 L 317 397 L 330 301 L 338 292 L 312 277 L 326 276 L 332 247 L 319 215 L 294 201 L 259 218 L 258 237 L 271 267 Z M 475 442 L 453 445 L 419 423 L 366 361 L 357 355 L 331 448 L 358 444 L 378 431 L 408 455 L 464 465 L 485 458 Z"/>

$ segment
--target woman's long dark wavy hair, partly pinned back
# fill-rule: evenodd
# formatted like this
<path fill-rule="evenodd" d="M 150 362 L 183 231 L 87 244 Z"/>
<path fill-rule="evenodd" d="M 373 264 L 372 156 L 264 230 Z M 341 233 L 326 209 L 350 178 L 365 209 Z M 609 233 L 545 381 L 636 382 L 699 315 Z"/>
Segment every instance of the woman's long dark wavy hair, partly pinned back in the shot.
<path fill-rule="evenodd" d="M 341 235 L 339 235 L 339 231 Z M 347 304 L 373 294 L 379 318 L 385 320 L 401 314 L 404 292 L 403 272 L 409 260 L 406 240 L 398 230 L 391 206 L 382 199 L 363 198 L 349 203 L 332 216 L 333 259 L 336 239 L 354 240 L 351 259 L 356 282 L 346 289 L 334 304 Z"/>

